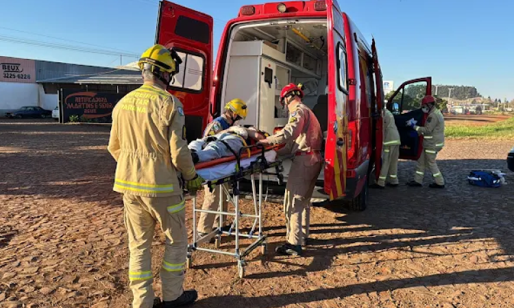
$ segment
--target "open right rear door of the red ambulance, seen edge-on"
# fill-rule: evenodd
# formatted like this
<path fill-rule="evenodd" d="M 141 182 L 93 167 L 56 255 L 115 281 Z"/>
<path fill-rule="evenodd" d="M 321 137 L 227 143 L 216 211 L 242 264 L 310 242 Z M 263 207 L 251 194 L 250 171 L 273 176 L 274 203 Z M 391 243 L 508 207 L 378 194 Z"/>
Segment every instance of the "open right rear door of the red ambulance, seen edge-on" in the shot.
<path fill-rule="evenodd" d="M 328 18 L 328 129 L 325 143 L 325 169 L 323 190 L 330 201 L 345 196 L 346 139 L 347 139 L 347 85 L 346 44 L 343 15 L 337 3 L 326 1 Z M 341 82 L 339 82 L 341 81 Z M 341 86 L 343 85 L 343 86 Z"/>

